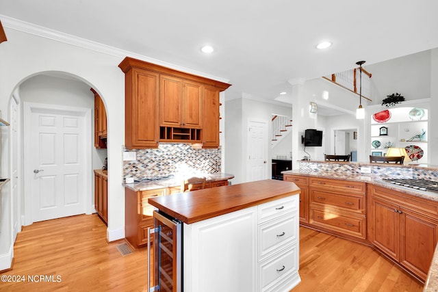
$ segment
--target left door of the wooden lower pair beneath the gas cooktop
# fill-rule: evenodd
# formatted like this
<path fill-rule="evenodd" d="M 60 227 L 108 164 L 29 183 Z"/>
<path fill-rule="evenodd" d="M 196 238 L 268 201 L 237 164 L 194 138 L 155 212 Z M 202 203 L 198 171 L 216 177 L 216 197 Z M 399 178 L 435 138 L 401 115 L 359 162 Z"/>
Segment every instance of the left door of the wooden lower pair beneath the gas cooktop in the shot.
<path fill-rule="evenodd" d="M 399 251 L 399 213 L 397 206 L 381 200 L 372 202 L 372 243 L 377 248 L 398 261 Z"/>

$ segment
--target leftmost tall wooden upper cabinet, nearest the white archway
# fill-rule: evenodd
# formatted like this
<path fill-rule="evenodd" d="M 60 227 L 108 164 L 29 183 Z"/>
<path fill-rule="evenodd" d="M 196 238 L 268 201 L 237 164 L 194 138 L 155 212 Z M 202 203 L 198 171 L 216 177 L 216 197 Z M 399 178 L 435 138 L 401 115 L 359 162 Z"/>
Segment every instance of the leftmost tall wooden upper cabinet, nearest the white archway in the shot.
<path fill-rule="evenodd" d="M 125 83 L 125 147 L 157 148 L 159 74 L 133 68 Z"/>

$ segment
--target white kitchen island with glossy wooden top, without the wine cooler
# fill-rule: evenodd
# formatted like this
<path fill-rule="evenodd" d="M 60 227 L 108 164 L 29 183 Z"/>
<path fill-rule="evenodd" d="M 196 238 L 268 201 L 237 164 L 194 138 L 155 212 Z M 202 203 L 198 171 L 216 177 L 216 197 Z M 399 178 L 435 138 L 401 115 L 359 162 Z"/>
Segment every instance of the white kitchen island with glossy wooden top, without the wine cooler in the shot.
<path fill-rule="evenodd" d="M 299 193 L 265 180 L 148 202 L 183 224 L 184 291 L 290 291 L 300 282 Z"/>

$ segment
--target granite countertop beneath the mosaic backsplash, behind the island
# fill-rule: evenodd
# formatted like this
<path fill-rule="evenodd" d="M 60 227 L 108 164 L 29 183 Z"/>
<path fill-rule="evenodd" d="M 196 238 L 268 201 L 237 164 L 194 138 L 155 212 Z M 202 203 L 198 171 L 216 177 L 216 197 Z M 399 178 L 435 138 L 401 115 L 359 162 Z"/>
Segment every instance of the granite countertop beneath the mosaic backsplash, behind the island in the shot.
<path fill-rule="evenodd" d="M 205 178 L 207 181 L 224 181 L 233 178 L 233 174 L 217 173 L 217 174 L 207 174 Z M 123 183 L 124 187 L 131 189 L 133 191 L 149 191 L 151 189 L 162 189 L 165 187 L 178 187 L 181 185 L 183 178 L 164 178 L 158 180 L 146 180 L 134 183 Z"/>

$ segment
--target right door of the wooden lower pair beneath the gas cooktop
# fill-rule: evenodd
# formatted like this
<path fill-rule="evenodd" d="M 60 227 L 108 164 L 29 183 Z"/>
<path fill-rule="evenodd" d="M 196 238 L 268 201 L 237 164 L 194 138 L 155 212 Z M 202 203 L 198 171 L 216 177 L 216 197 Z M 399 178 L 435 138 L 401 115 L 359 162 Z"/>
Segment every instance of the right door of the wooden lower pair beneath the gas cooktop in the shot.
<path fill-rule="evenodd" d="M 400 263 L 426 280 L 438 239 L 438 220 L 401 209 Z M 421 256 L 420 256 L 421 255 Z"/>

